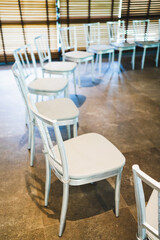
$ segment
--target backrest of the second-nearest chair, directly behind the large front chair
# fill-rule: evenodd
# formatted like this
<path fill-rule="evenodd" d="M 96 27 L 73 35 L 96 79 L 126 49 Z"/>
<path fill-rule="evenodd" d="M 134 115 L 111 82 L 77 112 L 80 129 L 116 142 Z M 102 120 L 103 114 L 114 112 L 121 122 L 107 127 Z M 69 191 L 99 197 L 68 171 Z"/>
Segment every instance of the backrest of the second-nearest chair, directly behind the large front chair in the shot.
<path fill-rule="evenodd" d="M 28 112 L 28 116 L 29 116 L 29 120 L 32 121 L 33 115 L 30 111 L 30 108 L 28 106 L 28 101 L 27 101 L 28 88 L 25 84 L 22 72 L 20 71 L 17 62 L 15 62 L 12 66 L 12 73 L 14 75 L 17 86 L 19 88 L 19 91 L 20 91 L 21 96 L 23 98 L 23 101 L 25 103 L 25 106 L 26 106 L 26 109 L 27 109 L 27 112 Z"/>

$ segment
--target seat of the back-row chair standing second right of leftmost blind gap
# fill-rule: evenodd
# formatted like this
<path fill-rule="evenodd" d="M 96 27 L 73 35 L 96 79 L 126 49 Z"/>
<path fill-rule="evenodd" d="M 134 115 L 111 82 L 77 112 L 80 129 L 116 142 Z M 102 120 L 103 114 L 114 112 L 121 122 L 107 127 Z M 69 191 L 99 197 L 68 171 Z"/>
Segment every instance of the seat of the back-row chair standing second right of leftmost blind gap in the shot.
<path fill-rule="evenodd" d="M 93 52 L 93 53 L 107 53 L 107 52 L 113 52 L 114 47 L 110 45 L 104 45 L 104 44 L 97 44 L 97 45 L 91 45 L 87 48 L 87 51 Z"/>

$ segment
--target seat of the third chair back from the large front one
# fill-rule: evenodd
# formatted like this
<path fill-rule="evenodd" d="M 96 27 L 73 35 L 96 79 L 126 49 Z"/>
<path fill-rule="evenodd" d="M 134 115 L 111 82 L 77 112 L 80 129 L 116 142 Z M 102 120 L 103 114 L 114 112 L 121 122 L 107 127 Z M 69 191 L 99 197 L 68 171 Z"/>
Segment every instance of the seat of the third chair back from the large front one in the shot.
<path fill-rule="evenodd" d="M 68 84 L 66 78 L 38 78 L 28 85 L 30 92 L 59 92 L 64 90 Z"/>

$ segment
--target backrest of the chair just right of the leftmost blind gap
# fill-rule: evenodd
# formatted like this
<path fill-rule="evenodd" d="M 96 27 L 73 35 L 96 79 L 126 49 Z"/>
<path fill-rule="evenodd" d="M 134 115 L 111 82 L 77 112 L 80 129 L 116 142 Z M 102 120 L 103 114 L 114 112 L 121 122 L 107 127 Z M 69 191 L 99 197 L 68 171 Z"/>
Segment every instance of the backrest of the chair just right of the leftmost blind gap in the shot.
<path fill-rule="evenodd" d="M 75 26 L 59 28 L 59 36 L 63 54 L 69 50 L 77 51 L 77 35 Z"/>

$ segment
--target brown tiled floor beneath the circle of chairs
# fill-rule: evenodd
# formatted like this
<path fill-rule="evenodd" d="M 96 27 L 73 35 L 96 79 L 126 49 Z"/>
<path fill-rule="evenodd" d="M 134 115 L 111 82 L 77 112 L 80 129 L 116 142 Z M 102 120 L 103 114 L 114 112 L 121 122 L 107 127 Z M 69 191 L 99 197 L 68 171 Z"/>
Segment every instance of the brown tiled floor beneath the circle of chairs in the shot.
<path fill-rule="evenodd" d="M 137 232 L 131 166 L 160 181 L 160 68 L 153 58 L 140 70 L 137 57 L 132 71 L 123 58 L 123 72 L 103 62 L 103 76 L 96 84 L 88 73 L 82 88 L 70 97 L 80 110 L 78 134 L 97 132 L 114 143 L 126 157 L 121 187 L 120 216 L 114 209 L 114 178 L 70 188 L 67 222 L 62 239 L 135 240 Z M 49 206 L 44 207 L 45 162 L 36 131 L 34 167 L 29 166 L 25 110 L 11 66 L 0 67 L 0 239 L 59 239 L 62 184 L 52 175 Z M 65 128 L 62 134 L 66 137 Z M 150 189 L 147 190 L 147 199 Z"/>

